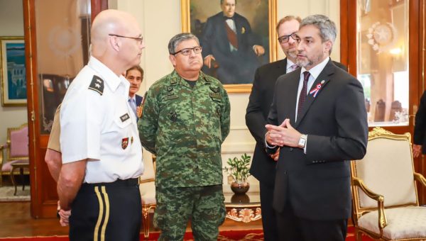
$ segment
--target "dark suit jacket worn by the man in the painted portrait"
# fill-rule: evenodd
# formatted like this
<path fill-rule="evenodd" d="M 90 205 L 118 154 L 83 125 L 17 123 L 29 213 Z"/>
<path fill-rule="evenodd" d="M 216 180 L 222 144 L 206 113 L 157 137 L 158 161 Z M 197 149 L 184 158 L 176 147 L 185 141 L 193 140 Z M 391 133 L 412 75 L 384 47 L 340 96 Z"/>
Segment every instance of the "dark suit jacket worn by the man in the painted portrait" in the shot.
<path fill-rule="evenodd" d="M 234 14 L 238 50 L 231 52 L 226 35 L 224 13 L 220 12 L 207 18 L 202 32 L 202 57 L 213 55 L 219 65 L 217 77 L 222 84 L 251 83 L 258 60 L 253 51 L 253 45 L 261 45 L 246 18 Z M 203 72 L 212 74 L 206 67 Z"/>

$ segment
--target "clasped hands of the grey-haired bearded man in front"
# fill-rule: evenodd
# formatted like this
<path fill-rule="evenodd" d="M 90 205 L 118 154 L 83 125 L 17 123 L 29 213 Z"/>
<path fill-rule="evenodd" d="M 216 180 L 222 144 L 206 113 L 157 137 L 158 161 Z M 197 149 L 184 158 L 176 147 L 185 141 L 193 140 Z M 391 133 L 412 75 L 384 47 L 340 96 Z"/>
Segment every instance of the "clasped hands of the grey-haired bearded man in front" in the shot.
<path fill-rule="evenodd" d="M 281 125 L 265 125 L 265 128 L 268 130 L 266 142 L 279 147 L 297 147 L 302 135 L 290 125 L 290 119 L 285 119 Z"/>

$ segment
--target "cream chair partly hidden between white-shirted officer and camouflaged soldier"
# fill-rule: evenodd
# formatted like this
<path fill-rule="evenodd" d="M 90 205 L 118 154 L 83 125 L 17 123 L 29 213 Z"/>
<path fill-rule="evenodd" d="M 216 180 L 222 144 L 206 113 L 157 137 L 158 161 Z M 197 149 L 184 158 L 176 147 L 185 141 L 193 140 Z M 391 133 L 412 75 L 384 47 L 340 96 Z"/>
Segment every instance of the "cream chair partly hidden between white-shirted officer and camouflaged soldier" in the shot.
<path fill-rule="evenodd" d="M 155 201 L 155 159 L 155 155 L 152 155 L 152 161 L 150 158 L 143 158 L 145 170 L 139 178 L 139 189 L 142 199 L 143 236 L 145 238 L 149 236 L 149 213 L 154 211 L 157 206 Z"/>

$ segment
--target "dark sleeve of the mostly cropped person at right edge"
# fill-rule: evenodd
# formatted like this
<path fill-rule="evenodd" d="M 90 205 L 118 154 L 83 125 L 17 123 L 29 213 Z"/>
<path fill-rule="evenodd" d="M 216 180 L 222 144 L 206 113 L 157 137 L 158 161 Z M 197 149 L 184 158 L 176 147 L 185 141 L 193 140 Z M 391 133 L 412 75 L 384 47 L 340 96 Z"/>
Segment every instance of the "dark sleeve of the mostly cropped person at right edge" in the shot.
<path fill-rule="evenodd" d="M 426 154 L 426 91 L 420 98 L 419 109 L 415 114 L 413 143 L 422 145 L 422 153 Z"/>

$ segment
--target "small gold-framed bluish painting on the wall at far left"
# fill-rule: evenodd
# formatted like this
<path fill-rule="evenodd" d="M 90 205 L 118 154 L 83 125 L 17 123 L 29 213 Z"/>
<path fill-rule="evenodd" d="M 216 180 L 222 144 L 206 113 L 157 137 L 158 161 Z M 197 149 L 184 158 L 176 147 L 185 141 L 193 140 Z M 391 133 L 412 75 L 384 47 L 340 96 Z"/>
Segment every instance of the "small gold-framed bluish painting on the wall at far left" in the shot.
<path fill-rule="evenodd" d="M 26 105 L 25 45 L 22 37 L 0 37 L 1 104 Z"/>

